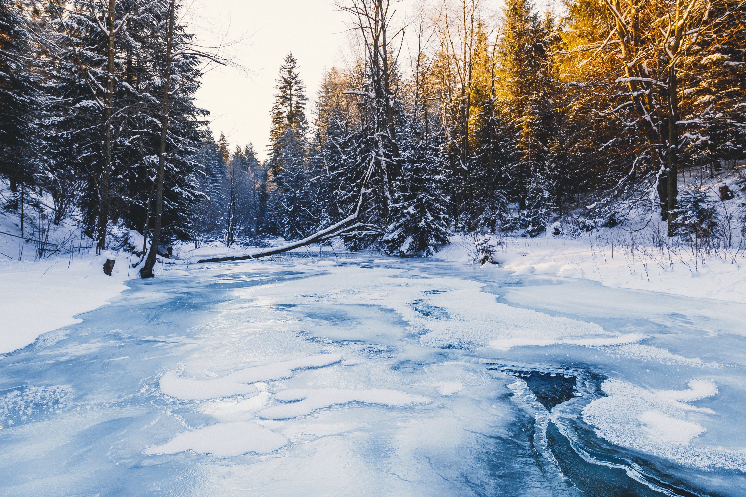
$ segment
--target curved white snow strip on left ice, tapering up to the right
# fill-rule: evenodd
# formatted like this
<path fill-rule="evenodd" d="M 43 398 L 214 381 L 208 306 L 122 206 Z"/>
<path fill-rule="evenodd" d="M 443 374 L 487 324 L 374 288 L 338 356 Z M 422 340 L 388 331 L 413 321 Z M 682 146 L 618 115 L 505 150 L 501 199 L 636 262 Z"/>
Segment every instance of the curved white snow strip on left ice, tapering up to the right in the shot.
<path fill-rule="evenodd" d="M 160 379 L 160 390 L 166 395 L 184 400 L 205 400 L 238 394 L 256 394 L 257 388 L 247 383 L 269 382 L 292 377 L 295 370 L 324 367 L 342 361 L 339 354 L 319 354 L 310 357 L 276 362 L 266 366 L 247 367 L 223 378 L 195 380 L 181 378 L 169 371 Z"/>

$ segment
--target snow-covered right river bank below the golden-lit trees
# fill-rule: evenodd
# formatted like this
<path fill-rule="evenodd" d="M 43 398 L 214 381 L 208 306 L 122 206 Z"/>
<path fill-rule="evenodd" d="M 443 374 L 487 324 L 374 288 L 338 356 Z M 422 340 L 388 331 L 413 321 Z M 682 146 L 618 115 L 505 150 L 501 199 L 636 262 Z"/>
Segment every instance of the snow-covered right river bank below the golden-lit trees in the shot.
<path fill-rule="evenodd" d="M 609 287 L 746 302 L 746 259 L 742 254 L 735 261 L 711 256 L 702 262 L 686 247 L 671 254 L 651 247 L 633 251 L 611 244 L 613 236 L 601 232 L 577 240 L 552 235 L 505 237 L 495 259 L 500 263 L 497 267 L 516 275 L 585 278 Z M 473 262 L 476 256 L 474 241 L 467 236 L 454 236 L 451 245 L 436 253 L 438 259 L 456 262 Z"/>

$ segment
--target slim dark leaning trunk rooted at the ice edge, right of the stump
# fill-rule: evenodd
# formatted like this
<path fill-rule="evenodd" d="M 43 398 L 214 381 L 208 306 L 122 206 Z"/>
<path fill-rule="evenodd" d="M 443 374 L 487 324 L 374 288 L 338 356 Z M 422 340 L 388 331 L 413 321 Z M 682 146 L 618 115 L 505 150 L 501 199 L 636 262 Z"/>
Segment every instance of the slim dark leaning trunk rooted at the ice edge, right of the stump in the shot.
<path fill-rule="evenodd" d="M 113 1 L 113 0 L 112 0 Z M 160 150 L 158 153 L 158 174 L 155 180 L 155 218 L 153 221 L 153 239 L 145 265 L 140 270 L 142 278 L 152 278 L 154 275 L 155 258 L 158 255 L 160 243 L 160 228 L 163 224 L 163 176 L 166 169 L 166 141 L 169 136 L 169 92 L 171 91 L 171 51 L 174 38 L 175 0 L 169 1 L 169 26 L 166 34 L 166 74 L 163 78 L 163 107 L 160 117 Z"/>

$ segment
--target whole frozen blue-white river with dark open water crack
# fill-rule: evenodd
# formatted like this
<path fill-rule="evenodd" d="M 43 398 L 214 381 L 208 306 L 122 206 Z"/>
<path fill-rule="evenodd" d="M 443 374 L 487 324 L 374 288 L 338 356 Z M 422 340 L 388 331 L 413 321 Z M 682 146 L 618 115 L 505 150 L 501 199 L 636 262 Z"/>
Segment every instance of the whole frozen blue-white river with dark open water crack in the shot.
<path fill-rule="evenodd" d="M 0 496 L 746 493 L 744 303 L 359 254 L 174 273 L 0 356 Z"/>

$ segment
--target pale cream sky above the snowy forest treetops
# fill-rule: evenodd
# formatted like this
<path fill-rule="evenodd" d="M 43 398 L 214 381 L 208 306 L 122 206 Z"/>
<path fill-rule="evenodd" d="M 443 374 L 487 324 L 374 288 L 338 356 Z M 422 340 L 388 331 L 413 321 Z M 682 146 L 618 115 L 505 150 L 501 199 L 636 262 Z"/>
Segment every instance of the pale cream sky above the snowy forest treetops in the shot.
<path fill-rule="evenodd" d="M 552 1 L 535 3 L 545 6 Z M 392 2 L 397 22 L 414 3 Z M 502 1 L 483 4 L 494 11 Z M 210 69 L 197 93 L 197 104 L 210 111 L 216 139 L 225 133 L 231 151 L 236 144 L 243 147 L 251 142 L 260 159 L 265 159 L 275 79 L 283 57 L 292 51 L 307 97 L 313 101 L 325 71 L 339 63 L 347 44 L 348 13 L 340 12 L 334 0 L 192 0 L 188 10 L 186 23 L 204 45 L 216 45 L 221 37 L 245 38 L 229 46 L 226 54 L 250 72 L 222 66 Z"/>

